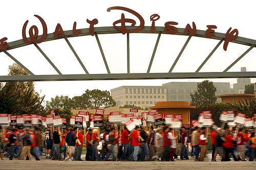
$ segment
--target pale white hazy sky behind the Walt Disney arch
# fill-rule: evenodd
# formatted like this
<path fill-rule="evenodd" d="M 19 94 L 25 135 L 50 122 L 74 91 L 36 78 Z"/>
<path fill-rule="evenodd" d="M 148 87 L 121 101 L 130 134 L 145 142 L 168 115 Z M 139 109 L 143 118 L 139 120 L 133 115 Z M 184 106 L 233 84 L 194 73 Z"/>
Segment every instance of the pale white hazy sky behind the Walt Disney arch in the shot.
<path fill-rule="evenodd" d="M 39 3 L 40 2 L 40 3 Z M 87 19 L 98 19 L 95 27 L 113 26 L 120 19 L 123 11 L 106 9 L 122 6 L 138 12 L 145 20 L 145 26 L 151 26 L 150 16 L 159 14 L 156 26 L 164 26 L 167 21 L 178 22 L 178 28 L 185 28 L 187 23 L 194 21 L 198 30 L 206 30 L 207 25 L 216 25 L 216 32 L 226 33 L 229 27 L 239 30 L 239 36 L 256 39 L 254 28 L 256 22 L 253 16 L 254 1 L 3 1 L 1 2 L 0 39 L 7 37 L 7 42 L 22 39 L 22 27 L 29 20 L 27 33 L 32 25 L 36 25 L 42 34 L 40 23 L 34 15 L 41 16 L 47 23 L 48 33 L 53 33 L 57 23 L 63 30 L 72 30 L 74 21 L 77 28 L 89 28 Z M 128 13 L 125 17 L 136 18 Z M 137 25 L 138 20 L 137 21 Z M 28 34 L 27 34 L 28 36 Z M 146 72 L 150 62 L 157 34 L 130 34 L 131 72 Z M 126 69 L 126 35 L 99 35 L 99 39 L 110 67 L 111 73 L 125 73 Z M 162 35 L 151 68 L 151 72 L 167 72 L 178 56 L 187 36 Z M 93 36 L 69 38 L 78 56 L 90 74 L 104 74 L 104 66 L 97 41 Z M 207 55 L 218 43 L 218 40 L 192 37 L 173 72 L 194 72 Z M 84 74 L 74 54 L 64 39 L 42 42 L 38 44 L 62 74 Z M 242 55 L 249 46 L 229 43 L 227 51 L 223 43 L 216 53 L 208 60 L 201 71 L 223 71 L 234 60 Z M 54 68 L 37 51 L 34 45 L 16 48 L 8 51 L 22 62 L 35 75 L 57 74 Z M 243 59 L 229 71 L 255 71 L 255 54 L 253 48 Z M 13 61 L 4 53 L 0 53 L 0 75 L 8 74 L 8 66 Z M 110 90 L 123 85 L 153 85 L 161 86 L 172 81 L 202 81 L 198 79 L 184 80 L 119 80 L 119 81 L 59 81 L 35 82 L 36 91 L 46 95 L 46 100 L 56 95 L 68 95 L 72 98 L 81 95 L 86 89 Z M 211 79 L 214 82 L 236 83 L 236 79 Z M 251 79 L 251 82 L 256 82 Z"/>

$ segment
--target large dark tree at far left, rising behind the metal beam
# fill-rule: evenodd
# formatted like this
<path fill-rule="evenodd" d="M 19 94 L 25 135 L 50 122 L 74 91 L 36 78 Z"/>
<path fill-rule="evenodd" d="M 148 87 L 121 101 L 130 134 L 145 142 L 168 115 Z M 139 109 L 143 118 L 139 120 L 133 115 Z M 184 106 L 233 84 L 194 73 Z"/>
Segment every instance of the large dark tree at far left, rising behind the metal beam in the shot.
<path fill-rule="evenodd" d="M 9 66 L 9 76 L 29 75 L 21 66 L 14 63 Z M 0 112 L 14 115 L 42 114 L 45 96 L 34 90 L 33 82 L 7 82 L 0 86 Z"/>

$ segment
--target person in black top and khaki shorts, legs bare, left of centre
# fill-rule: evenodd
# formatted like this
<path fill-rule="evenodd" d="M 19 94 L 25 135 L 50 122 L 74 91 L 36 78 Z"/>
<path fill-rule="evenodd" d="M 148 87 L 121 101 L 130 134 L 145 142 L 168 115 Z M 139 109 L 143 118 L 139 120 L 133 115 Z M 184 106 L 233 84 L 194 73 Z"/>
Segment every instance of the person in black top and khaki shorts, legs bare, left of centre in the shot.
<path fill-rule="evenodd" d="M 73 133 L 73 128 L 69 128 L 69 133 L 67 133 L 67 136 L 66 136 L 66 143 L 68 145 L 67 152 L 69 153 L 69 159 L 66 158 L 66 160 L 74 160 L 73 155 L 75 152 L 76 139 L 77 137 Z"/>

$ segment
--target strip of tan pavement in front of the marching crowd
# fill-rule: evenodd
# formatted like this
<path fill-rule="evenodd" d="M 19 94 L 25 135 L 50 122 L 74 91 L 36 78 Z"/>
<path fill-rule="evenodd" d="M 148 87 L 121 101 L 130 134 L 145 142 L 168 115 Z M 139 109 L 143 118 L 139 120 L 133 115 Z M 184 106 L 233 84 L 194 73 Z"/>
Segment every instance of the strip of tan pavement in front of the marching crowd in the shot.
<path fill-rule="evenodd" d="M 9 161 L 0 160 L 0 169 L 253 169 L 256 161 L 253 162 L 211 162 L 206 159 L 204 162 L 195 162 L 193 158 L 189 160 L 176 160 L 175 162 L 133 162 L 133 161 L 53 161 L 40 158 L 41 161 L 25 161 L 14 159 Z M 232 158 L 231 158 L 232 159 Z"/>

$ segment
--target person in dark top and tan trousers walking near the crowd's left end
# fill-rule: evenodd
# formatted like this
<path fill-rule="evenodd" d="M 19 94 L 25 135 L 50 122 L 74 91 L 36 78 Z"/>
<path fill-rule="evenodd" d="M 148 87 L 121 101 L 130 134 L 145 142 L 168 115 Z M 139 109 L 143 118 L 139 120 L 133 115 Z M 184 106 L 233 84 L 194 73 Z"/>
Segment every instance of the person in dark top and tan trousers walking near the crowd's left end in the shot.
<path fill-rule="evenodd" d="M 30 153 L 31 144 L 32 144 L 31 135 L 29 134 L 29 129 L 25 129 L 25 132 L 26 134 L 23 136 L 23 149 L 19 159 L 24 160 L 25 155 L 28 155 L 29 160 L 32 160 L 31 153 Z"/>

